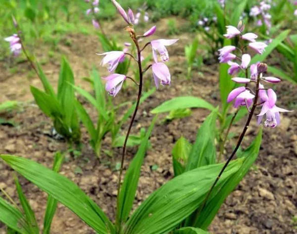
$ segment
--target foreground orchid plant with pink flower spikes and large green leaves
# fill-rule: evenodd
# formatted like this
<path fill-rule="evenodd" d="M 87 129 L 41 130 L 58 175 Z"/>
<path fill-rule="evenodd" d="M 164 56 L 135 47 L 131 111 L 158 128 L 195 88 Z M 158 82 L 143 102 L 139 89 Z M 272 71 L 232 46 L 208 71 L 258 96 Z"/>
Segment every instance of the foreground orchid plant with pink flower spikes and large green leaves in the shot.
<path fill-rule="evenodd" d="M 135 44 L 136 54 L 124 51 L 109 51 L 99 54 L 104 56 L 101 65 L 107 65 L 107 69 L 111 73 L 103 78 L 106 81 L 105 90 L 109 95 L 115 97 L 119 94 L 123 83 L 127 82 L 127 79 L 138 86 L 137 101 L 121 154 L 115 222 L 111 222 L 99 206 L 66 177 L 22 157 L 0 155 L 0 158 L 26 179 L 46 191 L 50 197 L 70 208 L 98 234 L 207 234 L 206 230 L 225 198 L 240 183 L 257 158 L 261 143 L 261 130 L 246 150 L 238 152 L 256 109 L 261 108 L 258 113 L 258 123 L 266 115 L 264 125 L 271 128 L 275 128 L 280 124 L 279 112 L 287 111 L 276 106 L 277 97 L 275 92 L 263 86 L 263 82 L 276 84 L 280 82 L 280 79 L 266 76 L 267 64 L 253 62 L 247 50 L 251 49 L 258 54 L 263 54 L 267 45 L 257 42 L 257 35 L 254 33 L 243 33 L 244 26 L 242 23 L 239 23 L 238 27 L 227 27 L 227 33 L 224 34 L 224 37 L 226 38 L 225 43 L 229 45 L 225 45 L 219 50 L 220 62 L 226 64 L 222 64 L 220 69 L 223 70 L 224 68 L 231 75 L 239 75 L 229 79 L 225 74 L 225 87 L 223 87 L 225 89 L 221 90 L 223 106 L 220 111 L 219 108 L 213 107 L 202 99 L 193 97 L 190 99 L 189 97 L 178 98 L 178 102 L 182 103 L 183 106 L 191 107 L 196 102 L 195 104 L 198 103 L 198 107 L 205 107 L 212 112 L 198 130 L 197 139 L 193 146 L 185 139 L 181 139 L 174 147 L 173 161 L 175 163 L 176 177 L 151 193 L 132 212 L 148 139 L 157 119 L 156 115 L 122 181 L 127 141 L 141 103 L 144 75 L 151 68 L 156 88 L 159 88 L 160 85 L 170 85 L 171 75 L 165 64 L 169 60 L 166 46 L 176 43 L 177 40 L 158 39 L 150 41 L 141 47 L 140 39 L 148 38 L 154 34 L 156 27 L 150 28 L 146 33 L 139 36 L 134 27 L 135 17 L 133 11 L 129 9 L 128 13 L 126 13 L 117 1 L 111 1 L 127 23 L 125 30 Z M 238 40 L 239 47 L 232 46 L 231 39 Z M 142 52 L 148 46 L 152 49 L 153 62 L 144 68 Z M 114 73 L 126 56 L 130 56 L 137 63 L 139 83 L 125 74 Z M 221 79 L 221 88 L 222 82 Z M 244 84 L 244 86 L 235 88 L 234 86 L 238 84 Z M 168 107 L 176 106 L 174 101 L 171 100 L 169 104 L 165 105 L 163 103 L 156 109 L 161 109 L 164 112 L 164 109 L 168 110 Z M 216 162 L 215 135 L 218 132 L 216 120 L 219 118 L 221 124 L 226 125 L 226 116 L 230 107 L 229 102 L 232 101 L 234 101 L 234 107 L 237 110 L 235 114 L 231 115 L 226 138 L 240 109 L 244 109 L 248 113 L 248 117 L 234 150 L 227 161 L 221 164 Z M 153 110 L 152 112 L 156 113 L 157 111 Z M 237 159 L 233 159 L 235 155 L 237 155 Z M 19 222 L 23 220 L 23 217 L 20 217 L 18 213 L 16 214 L 12 205 L 4 204 L 5 206 L 0 207 L 4 212 L 0 212 L 0 214 L 5 213 L 7 215 L 0 215 L 0 221 L 21 234 L 31 234 L 32 232 L 27 229 L 28 226 L 23 222 Z M 11 220 L 7 221 L 7 217 L 12 217 L 13 222 L 9 222 Z"/>

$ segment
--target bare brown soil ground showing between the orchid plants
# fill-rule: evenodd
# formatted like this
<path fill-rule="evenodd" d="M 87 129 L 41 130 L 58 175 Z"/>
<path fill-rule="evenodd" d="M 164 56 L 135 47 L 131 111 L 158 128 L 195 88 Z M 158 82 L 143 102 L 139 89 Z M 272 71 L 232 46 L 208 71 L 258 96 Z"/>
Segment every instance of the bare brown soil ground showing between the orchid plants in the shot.
<path fill-rule="evenodd" d="M 163 32 L 162 22 L 157 24 L 158 32 Z M 166 24 L 165 24 L 166 25 Z M 121 34 L 121 26 L 113 26 L 110 30 Z M 155 38 L 157 38 L 158 33 Z M 100 58 L 94 50 L 99 43 L 95 36 L 68 35 L 71 46 L 59 46 L 59 53 L 64 53 L 70 60 L 74 70 L 76 84 L 88 87 L 82 77 L 88 76 L 88 71 L 95 62 L 102 75 L 104 68 L 99 68 Z M 214 105 L 219 104 L 218 92 L 218 67 L 217 65 L 204 66 L 201 73 L 194 71 L 193 78 L 186 80 L 185 60 L 183 57 L 184 45 L 191 37 L 187 34 L 176 36 L 180 43 L 169 47 L 171 55 L 169 68 L 172 74 L 172 85 L 161 87 L 149 97 L 140 107 L 132 132 L 136 133 L 141 127 L 148 127 L 152 115 L 149 111 L 163 101 L 179 95 L 194 95 L 202 97 Z M 176 38 L 170 37 L 170 38 Z M 165 36 L 163 37 L 165 38 Z M 166 37 L 168 38 L 168 37 Z M 123 40 L 123 43 L 125 41 Z M 97 52 L 97 51 L 96 51 Z M 37 56 L 43 57 L 43 50 L 37 50 Z M 49 61 L 44 70 L 50 81 L 56 87 L 59 61 Z M 181 64 L 183 64 L 181 66 Z M 0 126 L 1 153 L 20 155 L 33 159 L 51 167 L 53 154 L 57 150 L 67 149 L 63 140 L 51 137 L 51 120 L 45 116 L 33 102 L 29 85 L 41 87 L 37 77 L 28 76 L 30 69 L 26 62 L 17 64 L 18 72 L 10 75 L 4 64 L 0 65 L 0 102 L 5 100 L 19 100 L 24 102 L 22 108 L 6 114 L 5 117 L 16 123 L 15 127 Z M 103 72 L 104 71 L 104 72 Z M 148 73 L 146 79 L 151 79 Z M 279 94 L 278 105 L 284 108 L 292 107 L 292 101 L 297 100 L 296 86 L 284 81 L 275 86 Z M 128 87 L 121 91 L 114 101 L 119 103 L 123 99 L 134 100 L 135 89 Z M 88 104 L 85 103 L 86 106 Z M 90 106 L 88 106 L 90 108 Z M 174 143 L 181 136 L 191 142 L 196 138 L 197 130 L 209 111 L 194 109 L 190 117 L 163 123 L 164 115 L 154 127 L 145 163 L 137 191 L 135 207 L 139 205 L 153 190 L 163 185 L 173 177 L 171 150 Z M 96 114 L 93 114 L 96 117 Z M 264 129 L 260 153 L 255 165 L 235 191 L 227 198 L 217 217 L 210 226 L 212 234 L 296 234 L 297 223 L 297 112 L 282 115 L 282 124 L 276 129 Z M 237 135 L 242 129 L 238 123 L 232 129 Z M 123 126 L 122 133 L 127 130 Z M 254 138 L 258 126 L 253 120 L 247 132 L 243 146 L 247 146 Z M 111 159 L 104 153 L 98 159 L 88 144 L 88 135 L 83 128 L 82 155 L 73 158 L 68 153 L 62 166 L 61 174 L 75 182 L 88 195 L 96 201 L 102 210 L 114 219 L 116 204 L 116 183 L 118 171 L 115 164 L 120 161 L 121 148 L 114 149 L 114 158 Z M 110 137 L 103 141 L 102 149 L 110 149 Z M 227 153 L 230 153 L 234 141 L 228 142 Z M 136 153 L 137 147 L 128 148 L 125 168 Z M 162 155 L 160 157 L 160 155 Z M 157 165 L 156 170 L 152 166 Z M 78 167 L 82 170 L 78 170 Z M 79 173 L 78 173 L 79 172 Z M 47 194 L 30 182 L 20 178 L 21 185 L 27 198 L 36 212 L 37 219 L 42 225 L 46 206 Z M 13 182 L 13 171 L 0 162 L 0 186 L 17 201 Z M 0 234 L 5 234 L 5 227 L 0 224 Z M 93 234 L 95 233 L 76 217 L 68 208 L 58 204 L 58 209 L 52 223 L 52 234 Z"/>

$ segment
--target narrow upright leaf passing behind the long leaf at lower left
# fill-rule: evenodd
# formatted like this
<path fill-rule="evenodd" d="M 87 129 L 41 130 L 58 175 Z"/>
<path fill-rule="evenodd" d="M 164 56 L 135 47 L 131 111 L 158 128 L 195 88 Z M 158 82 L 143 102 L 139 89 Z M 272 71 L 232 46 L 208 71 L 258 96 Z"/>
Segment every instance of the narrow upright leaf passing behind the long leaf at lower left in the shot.
<path fill-rule="evenodd" d="M 63 161 L 64 161 L 64 156 L 60 152 L 56 152 L 54 155 L 52 170 L 54 172 L 59 172 Z M 45 212 L 45 218 L 44 218 L 43 234 L 50 234 L 50 226 L 51 226 L 51 222 L 52 222 L 54 213 L 56 211 L 56 208 L 57 208 L 57 200 L 49 195 L 48 201 L 47 201 L 47 208 Z"/>

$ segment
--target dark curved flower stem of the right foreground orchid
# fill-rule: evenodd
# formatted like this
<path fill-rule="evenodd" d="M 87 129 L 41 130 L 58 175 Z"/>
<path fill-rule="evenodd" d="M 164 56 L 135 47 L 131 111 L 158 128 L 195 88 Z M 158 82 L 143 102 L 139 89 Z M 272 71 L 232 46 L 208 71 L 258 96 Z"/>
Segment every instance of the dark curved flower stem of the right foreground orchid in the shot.
<path fill-rule="evenodd" d="M 197 212 L 197 215 L 195 217 L 195 223 L 198 221 L 198 217 L 199 217 L 199 214 L 200 212 L 204 209 L 205 205 L 206 205 L 206 202 L 213 190 L 213 188 L 215 187 L 215 185 L 218 183 L 220 177 L 222 176 L 223 172 L 225 171 L 225 169 L 227 168 L 227 166 L 229 165 L 229 163 L 231 162 L 232 158 L 234 157 L 234 155 L 236 154 L 237 150 L 239 149 L 239 146 L 241 145 L 242 141 L 244 140 L 244 137 L 246 135 L 246 132 L 247 132 L 247 129 L 248 129 L 248 126 L 249 126 L 249 123 L 252 119 L 252 116 L 253 116 L 253 113 L 256 109 L 256 106 L 257 106 L 257 100 L 258 100 L 258 95 L 259 95 L 259 84 L 260 84 L 260 75 L 258 75 L 258 78 L 257 78 L 257 85 L 256 85 L 256 94 L 255 94 L 255 97 L 254 97 L 254 101 L 253 101 L 253 105 L 252 105 L 252 108 L 250 110 L 250 113 L 248 115 L 248 118 L 247 118 L 247 122 L 246 122 L 246 125 L 244 127 L 244 130 L 243 132 L 241 133 L 241 135 L 239 136 L 239 139 L 237 141 L 237 144 L 236 144 L 236 147 L 235 149 L 233 150 L 232 154 L 230 155 L 230 157 L 228 158 L 228 160 L 226 161 L 226 163 L 224 164 L 222 170 L 220 171 L 219 175 L 217 176 L 217 178 L 215 179 L 214 183 L 212 184 L 212 186 L 210 187 L 204 201 L 203 201 L 203 204 L 202 206 L 200 206 L 200 209 L 199 211 Z"/>

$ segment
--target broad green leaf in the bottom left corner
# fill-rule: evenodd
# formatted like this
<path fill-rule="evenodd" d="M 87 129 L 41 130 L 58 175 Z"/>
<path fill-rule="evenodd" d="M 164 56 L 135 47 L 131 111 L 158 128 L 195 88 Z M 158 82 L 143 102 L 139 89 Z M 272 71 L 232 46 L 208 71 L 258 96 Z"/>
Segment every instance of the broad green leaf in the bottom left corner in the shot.
<path fill-rule="evenodd" d="M 0 197 L 0 221 L 20 234 L 31 234 L 24 215 Z"/>

